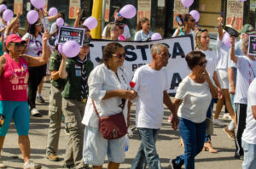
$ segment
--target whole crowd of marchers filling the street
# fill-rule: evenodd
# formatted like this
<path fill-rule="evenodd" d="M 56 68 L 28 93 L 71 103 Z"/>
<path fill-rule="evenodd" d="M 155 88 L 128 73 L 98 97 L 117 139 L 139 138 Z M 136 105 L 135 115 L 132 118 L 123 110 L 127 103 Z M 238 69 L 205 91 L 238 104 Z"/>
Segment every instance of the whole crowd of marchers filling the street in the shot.
<path fill-rule="evenodd" d="M 125 135 L 110 127 L 119 123 L 130 127 L 131 105 L 136 107 L 136 127 L 141 144 L 131 164 L 132 169 L 160 169 L 160 157 L 155 142 L 164 115 L 164 105 L 171 111 L 169 121 L 172 128 L 179 130 L 184 154 L 170 160 L 172 169 L 195 168 L 195 156 L 201 150 L 210 153 L 218 151 L 212 146 L 213 124 L 224 126 L 218 120 L 225 104 L 230 124 L 224 126 L 230 139 L 235 141 L 235 158 L 242 159 L 243 169 L 256 166 L 256 60 L 248 55 L 248 35 L 256 34 L 252 25 L 242 26 L 240 40 L 230 37 L 230 47 L 224 43 L 223 18 L 219 17 L 217 49 L 210 48 L 207 29 L 195 25 L 190 14 L 179 15 L 179 25 L 172 37 L 192 35 L 195 50 L 186 55 L 185 61 L 191 72 L 177 87 L 172 102 L 167 93 L 169 87 L 166 65 L 170 58 L 165 44 L 154 43 L 151 47 L 152 62 L 135 71 L 132 79 L 124 69 L 125 48 L 118 41 L 131 41 L 128 25 L 114 11 L 113 22 L 102 32 L 102 39 L 113 40 L 103 49 L 102 63 L 94 65 L 90 60 L 90 29 L 83 25 L 81 9 L 73 27 L 84 28 L 85 38 L 79 54 L 67 58 L 58 50 L 56 23 L 49 28 L 49 22 L 65 18 L 60 13 L 45 17 L 45 11 L 37 10 L 39 19 L 30 25 L 26 34 L 20 37 L 20 14 L 9 25 L 0 14 L 0 153 L 11 119 L 19 135 L 20 151 L 24 168 L 41 168 L 30 158 L 28 137 L 30 115 L 40 116 L 35 101 L 44 102 L 40 88 L 47 69 L 50 73 L 49 90 L 49 132 L 46 157 L 59 161 L 58 144 L 61 121 L 65 117 L 65 131 L 68 144 L 64 158 L 65 168 L 101 169 L 106 155 L 108 168 L 118 169 L 125 161 Z M 231 20 L 233 26 L 235 18 Z M 46 30 L 44 30 L 46 29 Z M 150 41 L 150 20 L 143 17 L 138 21 L 135 41 Z M 47 66 L 48 65 L 48 66 Z M 47 68 L 48 67 L 48 68 Z M 133 82 L 135 86 L 131 87 Z M 41 87 L 40 87 L 41 86 Z M 37 95 L 38 91 L 38 95 Z M 214 119 L 212 109 L 218 99 Z M 108 121 L 104 123 L 106 118 Z M 119 118 L 120 121 L 111 121 Z M 2 121 L 4 120 L 4 121 Z M 105 126 L 104 126 L 105 125 Z M 105 128 L 104 128 L 105 127 Z M 113 138 L 109 138 L 113 137 Z M 131 145 L 132 146 L 132 145 Z M 1 154 L 0 154 L 1 155 Z M 0 156 L 0 168 L 6 167 Z"/>

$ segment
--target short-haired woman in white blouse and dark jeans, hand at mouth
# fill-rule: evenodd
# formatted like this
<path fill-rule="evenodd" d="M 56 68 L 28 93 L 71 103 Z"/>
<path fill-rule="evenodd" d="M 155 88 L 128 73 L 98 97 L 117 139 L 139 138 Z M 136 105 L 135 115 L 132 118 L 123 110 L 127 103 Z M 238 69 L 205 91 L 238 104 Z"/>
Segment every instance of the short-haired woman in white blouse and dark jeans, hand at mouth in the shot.
<path fill-rule="evenodd" d="M 206 54 L 192 51 L 187 54 L 186 61 L 192 71 L 179 84 L 174 99 L 185 152 L 170 161 L 172 169 L 181 168 L 183 164 L 185 168 L 195 168 L 195 155 L 204 146 L 207 109 L 212 98 L 218 96 L 218 89 L 212 84 L 206 70 Z"/>

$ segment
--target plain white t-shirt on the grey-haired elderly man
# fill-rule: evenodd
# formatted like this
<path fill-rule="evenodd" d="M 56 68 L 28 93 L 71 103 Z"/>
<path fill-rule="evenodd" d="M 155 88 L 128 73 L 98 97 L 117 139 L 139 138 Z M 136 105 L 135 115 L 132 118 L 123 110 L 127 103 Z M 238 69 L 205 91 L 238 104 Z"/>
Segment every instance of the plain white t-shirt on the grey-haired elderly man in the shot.
<path fill-rule="evenodd" d="M 154 70 L 149 65 L 138 68 L 132 79 L 137 91 L 136 126 L 159 129 L 164 115 L 163 94 L 168 89 L 166 68 Z"/>

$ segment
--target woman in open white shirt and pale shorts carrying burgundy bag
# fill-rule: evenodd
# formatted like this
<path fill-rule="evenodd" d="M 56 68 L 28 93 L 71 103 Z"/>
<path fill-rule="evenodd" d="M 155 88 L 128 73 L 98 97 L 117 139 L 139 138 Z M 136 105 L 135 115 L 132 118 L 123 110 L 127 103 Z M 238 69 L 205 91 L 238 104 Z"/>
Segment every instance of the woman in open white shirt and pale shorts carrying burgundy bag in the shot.
<path fill-rule="evenodd" d="M 121 112 L 122 99 L 134 99 L 137 93 L 129 90 L 129 77 L 121 68 L 125 61 L 125 48 L 118 42 L 110 42 L 103 50 L 102 64 L 91 71 L 88 86 L 89 97 L 85 107 L 83 123 L 84 134 L 84 163 L 93 166 L 93 169 L 101 169 L 108 155 L 108 168 L 119 168 L 119 164 L 125 160 L 125 137 L 117 139 L 105 139 L 99 131 L 98 117 L 93 108 L 92 100 L 96 105 L 99 115 L 108 116 Z M 127 119 L 127 101 L 123 114 Z"/>

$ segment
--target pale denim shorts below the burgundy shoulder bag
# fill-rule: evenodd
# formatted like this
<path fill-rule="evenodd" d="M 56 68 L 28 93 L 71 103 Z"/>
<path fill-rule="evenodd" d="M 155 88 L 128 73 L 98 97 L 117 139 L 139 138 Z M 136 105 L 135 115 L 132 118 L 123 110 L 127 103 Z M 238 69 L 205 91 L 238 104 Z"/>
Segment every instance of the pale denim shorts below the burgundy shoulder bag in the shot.
<path fill-rule="evenodd" d="M 125 136 L 117 139 L 105 139 L 97 127 L 85 127 L 84 163 L 102 166 L 106 155 L 108 161 L 123 163 L 125 161 Z"/>

